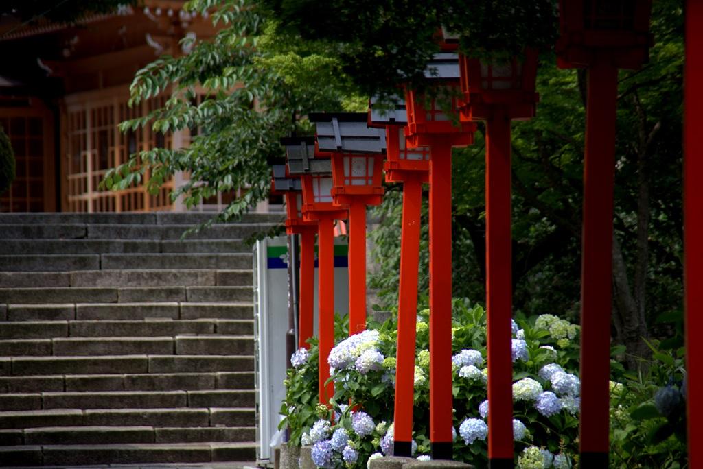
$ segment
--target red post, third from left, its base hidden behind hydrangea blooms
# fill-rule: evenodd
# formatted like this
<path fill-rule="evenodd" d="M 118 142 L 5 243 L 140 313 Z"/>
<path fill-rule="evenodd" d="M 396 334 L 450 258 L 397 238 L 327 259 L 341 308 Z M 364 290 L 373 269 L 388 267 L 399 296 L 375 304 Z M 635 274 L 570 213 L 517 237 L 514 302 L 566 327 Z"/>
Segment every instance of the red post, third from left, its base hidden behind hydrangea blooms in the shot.
<path fill-rule="evenodd" d="M 349 204 L 349 335 L 366 329 L 366 204 Z"/>

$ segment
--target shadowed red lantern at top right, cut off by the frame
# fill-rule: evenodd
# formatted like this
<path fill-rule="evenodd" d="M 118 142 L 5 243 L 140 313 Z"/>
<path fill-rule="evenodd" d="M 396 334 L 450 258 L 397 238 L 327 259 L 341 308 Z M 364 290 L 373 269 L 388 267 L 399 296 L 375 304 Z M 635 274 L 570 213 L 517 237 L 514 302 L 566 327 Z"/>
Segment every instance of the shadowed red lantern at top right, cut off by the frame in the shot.
<path fill-rule="evenodd" d="M 557 65 L 591 65 L 607 56 L 618 68 L 638 69 L 649 60 L 652 0 L 560 0 Z"/>

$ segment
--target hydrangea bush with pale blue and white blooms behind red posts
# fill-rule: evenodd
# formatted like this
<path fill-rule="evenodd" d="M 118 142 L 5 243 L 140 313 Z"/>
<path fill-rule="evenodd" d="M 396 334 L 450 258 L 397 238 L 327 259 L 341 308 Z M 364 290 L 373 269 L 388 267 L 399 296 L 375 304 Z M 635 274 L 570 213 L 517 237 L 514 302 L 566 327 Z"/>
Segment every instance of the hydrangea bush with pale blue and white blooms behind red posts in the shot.
<path fill-rule="evenodd" d="M 486 315 L 454 301 L 454 457 L 486 467 Z M 415 358 L 415 456 L 430 454 L 429 311 L 418 315 Z M 569 468 L 578 453 L 579 326 L 554 315 L 512 322 L 513 435 L 520 468 Z M 321 468 L 364 468 L 369 458 L 392 454 L 396 323 L 371 323 L 342 338 L 328 359 L 335 396 L 317 406 L 316 348 L 296 352 L 282 408 L 294 444 L 311 444 Z M 304 389 L 307 389 L 305 391 Z M 312 397 L 312 399 L 310 398 Z M 302 399 L 301 399 L 302 398 Z"/>

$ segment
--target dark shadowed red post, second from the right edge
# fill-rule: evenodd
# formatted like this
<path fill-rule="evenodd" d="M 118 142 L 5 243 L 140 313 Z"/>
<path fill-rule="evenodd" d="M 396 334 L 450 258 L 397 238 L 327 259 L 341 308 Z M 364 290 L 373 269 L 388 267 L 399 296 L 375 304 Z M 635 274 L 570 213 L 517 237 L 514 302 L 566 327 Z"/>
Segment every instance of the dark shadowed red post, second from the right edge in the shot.
<path fill-rule="evenodd" d="M 607 467 L 617 69 L 588 68 L 581 241 L 581 466 Z"/>

